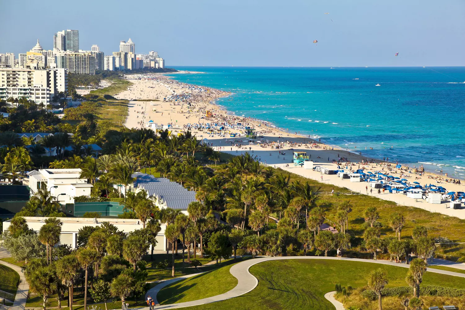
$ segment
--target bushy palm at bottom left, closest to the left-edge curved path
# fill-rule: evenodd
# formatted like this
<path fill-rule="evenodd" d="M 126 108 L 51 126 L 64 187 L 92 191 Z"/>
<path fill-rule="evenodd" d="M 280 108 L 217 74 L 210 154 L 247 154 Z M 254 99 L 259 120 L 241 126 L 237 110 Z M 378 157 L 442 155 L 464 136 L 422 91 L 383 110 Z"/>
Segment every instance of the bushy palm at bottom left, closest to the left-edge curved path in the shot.
<path fill-rule="evenodd" d="M 27 277 L 29 289 L 38 295 L 42 295 L 42 309 L 46 310 L 47 300 L 57 289 L 57 277 L 52 266 L 39 267 L 32 270 Z"/>

